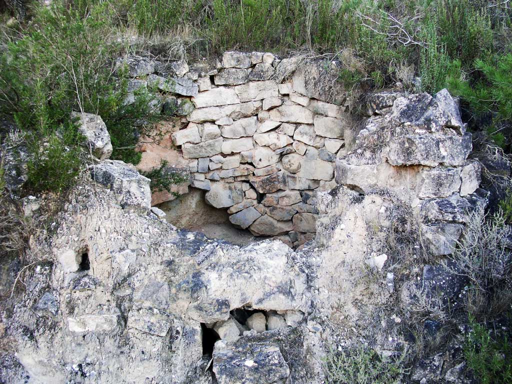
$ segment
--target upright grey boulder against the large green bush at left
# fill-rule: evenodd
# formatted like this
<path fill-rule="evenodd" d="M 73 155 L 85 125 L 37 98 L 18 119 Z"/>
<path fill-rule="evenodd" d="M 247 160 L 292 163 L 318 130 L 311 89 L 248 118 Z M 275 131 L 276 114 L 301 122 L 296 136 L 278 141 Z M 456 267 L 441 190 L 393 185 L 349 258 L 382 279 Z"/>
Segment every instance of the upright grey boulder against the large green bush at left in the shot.
<path fill-rule="evenodd" d="M 79 118 L 78 132 L 86 137 L 87 148 L 100 160 L 108 159 L 112 155 L 112 143 L 109 131 L 103 119 L 91 113 L 73 112 L 72 118 Z"/>

